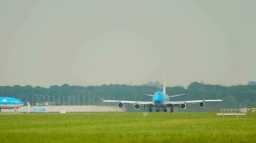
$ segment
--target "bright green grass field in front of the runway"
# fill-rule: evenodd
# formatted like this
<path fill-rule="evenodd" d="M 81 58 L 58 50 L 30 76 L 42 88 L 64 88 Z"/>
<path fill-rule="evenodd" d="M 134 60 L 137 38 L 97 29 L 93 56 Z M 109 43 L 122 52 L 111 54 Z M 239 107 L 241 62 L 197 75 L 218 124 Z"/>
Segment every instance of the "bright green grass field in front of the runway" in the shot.
<path fill-rule="evenodd" d="M 0 142 L 256 142 L 256 114 L 0 114 Z"/>

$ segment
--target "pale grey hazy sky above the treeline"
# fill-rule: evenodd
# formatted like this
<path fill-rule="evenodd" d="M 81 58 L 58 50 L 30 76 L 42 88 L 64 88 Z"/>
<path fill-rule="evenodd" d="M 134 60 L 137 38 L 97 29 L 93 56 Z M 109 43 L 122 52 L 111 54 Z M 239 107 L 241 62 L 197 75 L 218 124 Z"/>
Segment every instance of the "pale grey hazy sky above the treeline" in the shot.
<path fill-rule="evenodd" d="M 246 84 L 256 1 L 0 0 L 0 85 Z"/>

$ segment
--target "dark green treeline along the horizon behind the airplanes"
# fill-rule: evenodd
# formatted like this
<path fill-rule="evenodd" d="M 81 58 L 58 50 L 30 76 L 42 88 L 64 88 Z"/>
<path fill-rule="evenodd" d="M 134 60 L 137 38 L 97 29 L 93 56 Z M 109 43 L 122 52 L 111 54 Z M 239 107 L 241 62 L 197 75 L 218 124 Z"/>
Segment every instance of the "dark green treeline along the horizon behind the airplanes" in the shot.
<path fill-rule="evenodd" d="M 157 87 L 150 86 L 129 86 L 124 84 L 109 84 L 102 86 L 62 86 L 53 85 L 49 88 L 32 87 L 32 86 L 2 86 L 0 87 L 0 97 L 17 97 L 25 103 L 52 104 L 52 105 L 83 105 L 83 104 L 106 104 L 101 99 L 125 99 L 138 101 L 151 101 L 151 97 L 143 94 L 154 94 L 161 91 Z M 209 104 L 210 109 L 214 108 L 239 108 L 239 107 L 256 107 L 256 86 L 237 85 L 224 87 L 220 85 L 201 84 L 193 82 L 184 87 L 168 87 L 167 93 L 183 94 L 186 96 L 175 97 L 177 100 L 188 99 L 223 99 L 224 102 Z"/>

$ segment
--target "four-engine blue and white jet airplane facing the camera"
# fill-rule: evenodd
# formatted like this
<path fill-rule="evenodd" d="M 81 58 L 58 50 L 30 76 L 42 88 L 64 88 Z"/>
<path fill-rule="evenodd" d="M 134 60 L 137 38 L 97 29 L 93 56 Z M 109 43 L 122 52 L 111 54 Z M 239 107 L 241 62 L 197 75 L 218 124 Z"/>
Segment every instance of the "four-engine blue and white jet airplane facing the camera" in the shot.
<path fill-rule="evenodd" d="M 117 103 L 118 107 L 122 108 L 124 104 L 134 104 L 134 109 L 140 109 L 140 106 L 148 107 L 148 111 L 152 112 L 152 107 L 155 107 L 155 112 L 160 112 L 163 109 L 163 112 L 173 112 L 174 107 L 180 107 L 181 109 L 186 109 L 187 104 L 198 104 L 199 107 L 204 107 L 206 102 L 222 102 L 224 99 L 199 99 L 199 100 L 188 100 L 188 101 L 177 101 L 172 102 L 170 98 L 180 97 L 186 94 L 177 94 L 169 96 L 166 94 L 165 88 L 165 79 L 163 84 L 163 92 L 155 92 L 155 94 L 145 94 L 146 96 L 152 97 L 152 102 L 143 102 L 143 101 L 125 101 L 125 100 L 103 100 L 103 102 L 112 102 Z"/>

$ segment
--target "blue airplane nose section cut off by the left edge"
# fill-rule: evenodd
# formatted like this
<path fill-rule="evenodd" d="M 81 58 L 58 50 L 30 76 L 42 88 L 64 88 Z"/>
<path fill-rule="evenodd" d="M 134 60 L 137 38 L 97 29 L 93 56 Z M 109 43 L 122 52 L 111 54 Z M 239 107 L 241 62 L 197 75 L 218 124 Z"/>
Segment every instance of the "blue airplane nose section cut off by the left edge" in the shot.
<path fill-rule="evenodd" d="M 1 109 L 15 109 L 22 107 L 24 102 L 22 100 L 13 97 L 0 97 L 0 112 Z"/>

